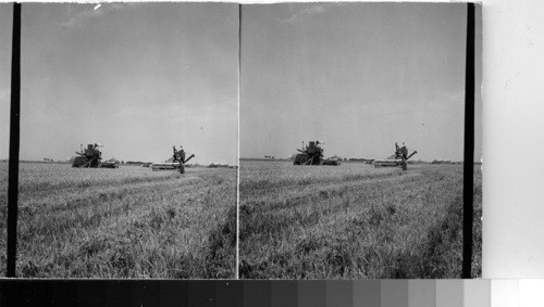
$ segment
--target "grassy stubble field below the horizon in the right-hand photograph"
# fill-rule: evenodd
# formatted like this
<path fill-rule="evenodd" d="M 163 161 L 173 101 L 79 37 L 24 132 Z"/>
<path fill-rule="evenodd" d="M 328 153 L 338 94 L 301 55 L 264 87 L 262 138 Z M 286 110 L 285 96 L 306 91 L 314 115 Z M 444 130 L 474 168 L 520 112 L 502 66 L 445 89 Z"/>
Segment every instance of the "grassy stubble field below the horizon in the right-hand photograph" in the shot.
<path fill-rule="evenodd" d="M 239 167 L 242 279 L 461 276 L 461 165 Z M 481 277 L 482 172 L 473 169 L 472 276 Z"/>

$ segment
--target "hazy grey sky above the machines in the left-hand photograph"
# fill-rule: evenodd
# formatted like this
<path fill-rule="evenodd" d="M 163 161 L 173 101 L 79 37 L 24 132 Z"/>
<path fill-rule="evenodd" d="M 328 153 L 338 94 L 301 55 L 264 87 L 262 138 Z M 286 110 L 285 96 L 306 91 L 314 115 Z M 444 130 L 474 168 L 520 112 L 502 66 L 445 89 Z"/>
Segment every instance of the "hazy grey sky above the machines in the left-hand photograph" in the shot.
<path fill-rule="evenodd" d="M 11 3 L 0 4 L 0 158 L 9 155 Z M 21 158 L 237 164 L 238 7 L 23 3 Z"/>

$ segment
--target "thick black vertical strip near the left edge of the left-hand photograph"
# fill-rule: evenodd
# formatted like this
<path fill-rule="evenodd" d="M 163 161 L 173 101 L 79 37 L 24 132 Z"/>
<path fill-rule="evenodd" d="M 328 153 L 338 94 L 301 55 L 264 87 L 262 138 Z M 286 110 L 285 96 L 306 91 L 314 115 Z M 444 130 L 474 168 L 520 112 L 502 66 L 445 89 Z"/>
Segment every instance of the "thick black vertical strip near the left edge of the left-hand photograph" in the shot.
<path fill-rule="evenodd" d="M 15 277 L 17 255 L 18 143 L 21 119 L 21 3 L 13 5 L 13 42 L 11 55 L 10 166 L 8 177 L 8 268 Z"/>

